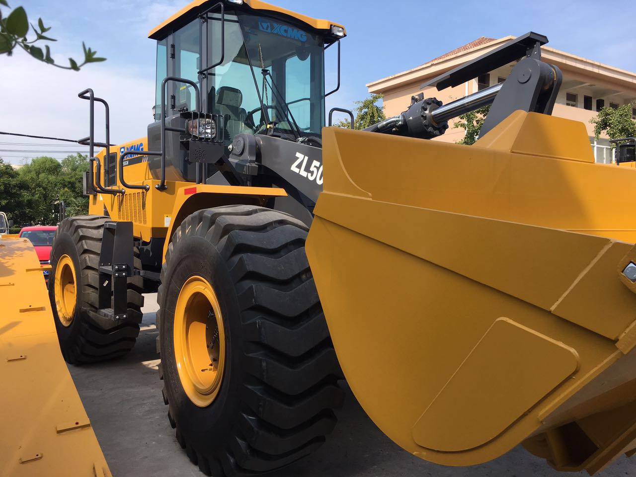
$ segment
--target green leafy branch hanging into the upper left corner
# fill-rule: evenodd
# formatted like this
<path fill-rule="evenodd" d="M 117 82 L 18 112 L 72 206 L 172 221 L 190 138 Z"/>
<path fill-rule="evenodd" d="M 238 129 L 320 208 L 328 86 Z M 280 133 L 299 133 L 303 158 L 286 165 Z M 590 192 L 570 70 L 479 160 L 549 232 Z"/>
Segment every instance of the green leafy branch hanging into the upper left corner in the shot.
<path fill-rule="evenodd" d="M 9 4 L 6 0 L 0 0 L 0 7 L 9 8 Z M 29 25 L 31 25 L 32 30 L 31 39 L 27 39 L 27 35 L 29 35 Z M 6 55 L 11 56 L 13 50 L 19 46 L 37 60 L 57 66 L 58 68 L 72 69 L 74 71 L 79 71 L 85 64 L 106 60 L 106 58 L 97 57 L 97 52 L 86 48 L 86 45 L 82 43 L 84 61 L 81 64 L 78 64 L 73 58 L 69 58 L 69 66 L 55 64 L 55 61 L 51 57 L 51 49 L 48 45 L 44 45 L 44 51 L 42 51 L 42 48 L 39 46 L 34 45 L 34 43 L 41 45 L 42 41 L 57 41 L 45 36 L 45 33 L 50 29 L 51 27 L 45 27 L 42 18 L 38 18 L 37 27 L 33 24 L 29 24 L 27 12 L 22 6 L 18 6 L 8 13 L 5 12 L 4 15 L 2 8 L 0 8 L 0 54 L 6 53 Z"/>

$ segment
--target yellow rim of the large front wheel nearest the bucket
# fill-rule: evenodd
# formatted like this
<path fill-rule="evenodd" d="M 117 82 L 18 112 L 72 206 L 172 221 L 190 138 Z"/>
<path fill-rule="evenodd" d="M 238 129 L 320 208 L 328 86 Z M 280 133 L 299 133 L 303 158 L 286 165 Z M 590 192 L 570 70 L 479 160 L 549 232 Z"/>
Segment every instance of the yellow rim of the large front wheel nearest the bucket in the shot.
<path fill-rule="evenodd" d="M 185 282 L 177 298 L 174 356 L 190 401 L 202 408 L 209 406 L 223 379 L 225 330 L 214 289 L 198 275 Z"/>

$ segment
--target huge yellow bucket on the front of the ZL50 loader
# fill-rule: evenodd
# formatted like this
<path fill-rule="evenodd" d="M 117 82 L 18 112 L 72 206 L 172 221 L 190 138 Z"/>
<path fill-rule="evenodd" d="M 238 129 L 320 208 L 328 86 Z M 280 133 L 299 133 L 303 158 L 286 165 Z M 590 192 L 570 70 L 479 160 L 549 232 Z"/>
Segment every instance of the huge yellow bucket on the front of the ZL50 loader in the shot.
<path fill-rule="evenodd" d="M 473 146 L 326 128 L 307 255 L 345 377 L 408 452 L 636 452 L 636 170 L 516 111 Z"/>

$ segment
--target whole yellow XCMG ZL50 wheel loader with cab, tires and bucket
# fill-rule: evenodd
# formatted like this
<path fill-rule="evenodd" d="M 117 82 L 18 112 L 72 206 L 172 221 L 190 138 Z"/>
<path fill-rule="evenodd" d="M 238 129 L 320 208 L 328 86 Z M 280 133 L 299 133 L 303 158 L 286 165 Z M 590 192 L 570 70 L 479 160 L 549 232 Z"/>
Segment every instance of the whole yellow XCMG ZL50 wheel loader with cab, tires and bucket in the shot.
<path fill-rule="evenodd" d="M 636 172 L 594 163 L 584 125 L 550 115 L 562 77 L 541 60 L 547 38 L 430 84 L 516 61 L 504 83 L 413 97 L 354 131 L 324 128 L 324 50 L 345 34 L 259 0 L 197 0 L 150 33 L 146 138 L 113 147 L 106 126 L 96 142 L 108 104 L 79 93 L 91 215 L 60 224 L 49 286 L 66 360 L 128 352 L 158 289 L 168 418 L 214 476 L 315 450 L 342 377 L 387 436 L 438 464 L 523 443 L 595 473 L 636 452 Z M 473 146 L 431 141 L 487 104 Z"/>

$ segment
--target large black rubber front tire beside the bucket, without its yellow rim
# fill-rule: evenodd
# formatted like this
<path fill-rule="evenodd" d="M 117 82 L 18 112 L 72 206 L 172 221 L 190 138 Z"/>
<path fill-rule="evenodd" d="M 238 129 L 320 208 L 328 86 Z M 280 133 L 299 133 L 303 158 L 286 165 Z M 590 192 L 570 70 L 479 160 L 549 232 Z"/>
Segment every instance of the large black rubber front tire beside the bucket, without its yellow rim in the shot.
<path fill-rule="evenodd" d="M 307 226 L 263 207 L 195 212 L 174 233 L 157 314 L 163 399 L 179 444 L 215 477 L 279 469 L 318 448 L 336 424 L 342 371 L 305 256 Z M 193 404 L 176 369 L 174 313 L 184 282 L 208 280 L 225 328 L 216 399 Z"/>

